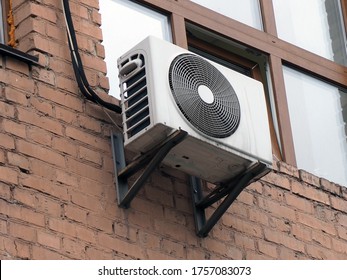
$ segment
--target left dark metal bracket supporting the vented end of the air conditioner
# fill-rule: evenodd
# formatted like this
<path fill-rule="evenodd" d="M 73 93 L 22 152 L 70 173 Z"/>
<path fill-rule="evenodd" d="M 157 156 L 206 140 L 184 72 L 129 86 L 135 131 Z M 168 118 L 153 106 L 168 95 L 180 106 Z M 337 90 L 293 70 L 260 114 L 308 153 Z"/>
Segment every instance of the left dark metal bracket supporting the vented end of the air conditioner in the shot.
<path fill-rule="evenodd" d="M 177 130 L 158 146 L 127 164 L 124 154 L 123 134 L 117 132 L 111 135 L 115 185 L 117 189 L 118 205 L 120 207 L 129 208 L 131 201 L 145 184 L 154 169 L 162 162 L 170 150 L 179 144 L 186 136 L 187 132 Z M 143 172 L 129 188 L 129 177 L 142 168 L 144 168 Z"/>

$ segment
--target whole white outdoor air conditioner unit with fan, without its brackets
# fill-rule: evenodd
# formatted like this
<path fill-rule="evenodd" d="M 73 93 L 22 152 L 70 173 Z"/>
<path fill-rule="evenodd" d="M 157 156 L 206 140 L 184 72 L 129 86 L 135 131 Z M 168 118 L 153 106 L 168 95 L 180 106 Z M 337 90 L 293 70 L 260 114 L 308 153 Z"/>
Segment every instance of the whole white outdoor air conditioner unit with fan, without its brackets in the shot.
<path fill-rule="evenodd" d="M 211 183 L 272 163 L 263 85 L 155 37 L 118 59 L 124 145 L 146 153 L 176 130 L 188 137 L 163 163 Z"/>

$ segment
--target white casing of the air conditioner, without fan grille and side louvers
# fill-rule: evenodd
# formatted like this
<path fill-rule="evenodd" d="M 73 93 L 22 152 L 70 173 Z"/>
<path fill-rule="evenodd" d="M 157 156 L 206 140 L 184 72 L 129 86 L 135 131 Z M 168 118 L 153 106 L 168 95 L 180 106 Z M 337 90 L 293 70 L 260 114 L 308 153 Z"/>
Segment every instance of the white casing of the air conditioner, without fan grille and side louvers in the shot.
<path fill-rule="evenodd" d="M 230 135 L 214 137 L 202 132 L 178 107 L 170 88 L 169 72 L 175 58 L 184 55 L 194 55 L 212 64 L 234 89 L 240 117 Z M 181 129 L 188 132 L 188 137 L 165 157 L 163 163 L 170 167 L 208 182 L 220 183 L 230 180 L 254 162 L 271 166 L 267 107 L 260 82 L 152 36 L 121 56 L 118 68 L 127 150 L 145 153 Z M 202 71 L 209 75 L 207 70 Z M 189 77 L 187 79 L 189 85 Z M 194 113 L 202 125 L 208 123 L 208 114 Z M 214 129 L 218 130 L 218 125 Z"/>

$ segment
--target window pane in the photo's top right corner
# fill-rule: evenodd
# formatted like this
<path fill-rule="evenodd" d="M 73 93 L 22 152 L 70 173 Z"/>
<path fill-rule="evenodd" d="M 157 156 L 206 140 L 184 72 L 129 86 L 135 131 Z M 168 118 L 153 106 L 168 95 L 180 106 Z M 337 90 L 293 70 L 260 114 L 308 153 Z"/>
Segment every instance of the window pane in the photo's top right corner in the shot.
<path fill-rule="evenodd" d="M 347 65 L 340 0 L 273 0 L 278 36 Z"/>

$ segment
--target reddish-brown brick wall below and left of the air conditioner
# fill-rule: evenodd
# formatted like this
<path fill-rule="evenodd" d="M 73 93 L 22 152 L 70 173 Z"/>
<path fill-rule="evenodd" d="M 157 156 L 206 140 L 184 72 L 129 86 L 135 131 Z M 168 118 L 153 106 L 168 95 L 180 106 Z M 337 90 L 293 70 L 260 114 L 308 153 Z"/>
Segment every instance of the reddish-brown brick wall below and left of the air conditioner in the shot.
<path fill-rule="evenodd" d="M 70 2 L 89 82 L 116 102 L 98 0 Z M 347 189 L 281 162 L 205 239 L 177 171 L 156 170 L 131 208 L 118 208 L 116 128 L 78 91 L 60 1 L 13 3 L 18 48 L 40 65 L 0 57 L 2 259 L 347 259 Z"/>

